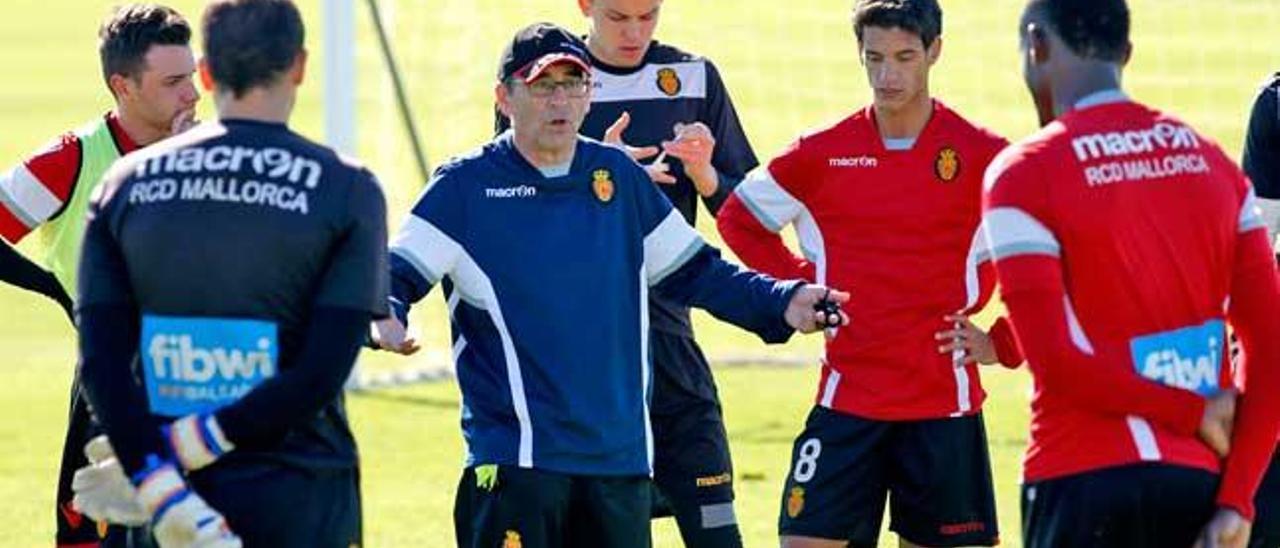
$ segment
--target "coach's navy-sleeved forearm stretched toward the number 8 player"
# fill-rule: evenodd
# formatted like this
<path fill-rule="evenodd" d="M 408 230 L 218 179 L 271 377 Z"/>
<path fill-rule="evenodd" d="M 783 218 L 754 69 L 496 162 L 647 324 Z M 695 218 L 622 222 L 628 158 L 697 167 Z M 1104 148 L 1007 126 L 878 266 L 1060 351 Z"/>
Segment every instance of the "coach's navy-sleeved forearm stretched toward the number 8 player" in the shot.
<path fill-rule="evenodd" d="M 785 312 L 801 282 L 778 282 L 721 259 L 703 246 L 687 262 L 654 287 L 654 292 L 707 310 L 713 316 L 758 334 L 764 342 L 786 342 L 794 329 Z"/>

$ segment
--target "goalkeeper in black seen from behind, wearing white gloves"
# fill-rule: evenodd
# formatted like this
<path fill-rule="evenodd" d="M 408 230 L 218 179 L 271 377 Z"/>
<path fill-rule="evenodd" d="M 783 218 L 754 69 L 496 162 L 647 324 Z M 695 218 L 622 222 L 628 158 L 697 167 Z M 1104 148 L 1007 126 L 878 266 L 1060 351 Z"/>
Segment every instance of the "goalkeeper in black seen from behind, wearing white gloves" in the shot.
<path fill-rule="evenodd" d="M 76 501 L 133 503 L 161 547 L 361 542 L 342 387 L 387 314 L 387 210 L 287 125 L 301 29 L 289 0 L 210 3 L 218 120 L 118 161 L 90 210 L 81 374 L 114 455 L 86 449 Z"/>

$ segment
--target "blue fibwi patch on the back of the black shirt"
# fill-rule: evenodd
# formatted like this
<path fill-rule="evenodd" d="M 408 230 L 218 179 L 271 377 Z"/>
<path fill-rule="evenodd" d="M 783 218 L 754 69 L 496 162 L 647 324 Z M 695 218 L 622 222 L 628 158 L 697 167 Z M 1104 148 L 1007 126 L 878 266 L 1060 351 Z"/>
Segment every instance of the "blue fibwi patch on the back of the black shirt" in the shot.
<path fill-rule="evenodd" d="M 151 412 L 207 412 L 275 376 L 276 326 L 221 318 L 142 316 L 143 379 Z"/>

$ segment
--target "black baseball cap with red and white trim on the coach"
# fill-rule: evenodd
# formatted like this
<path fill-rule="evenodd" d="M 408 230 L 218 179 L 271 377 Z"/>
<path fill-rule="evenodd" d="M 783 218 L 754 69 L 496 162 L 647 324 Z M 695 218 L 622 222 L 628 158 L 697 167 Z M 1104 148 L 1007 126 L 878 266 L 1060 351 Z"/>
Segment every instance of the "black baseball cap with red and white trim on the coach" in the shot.
<path fill-rule="evenodd" d="M 498 81 L 520 78 L 525 83 L 538 79 L 548 67 L 571 63 L 591 70 L 586 44 L 572 32 L 552 23 L 534 23 L 521 28 L 502 52 Z"/>

